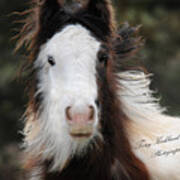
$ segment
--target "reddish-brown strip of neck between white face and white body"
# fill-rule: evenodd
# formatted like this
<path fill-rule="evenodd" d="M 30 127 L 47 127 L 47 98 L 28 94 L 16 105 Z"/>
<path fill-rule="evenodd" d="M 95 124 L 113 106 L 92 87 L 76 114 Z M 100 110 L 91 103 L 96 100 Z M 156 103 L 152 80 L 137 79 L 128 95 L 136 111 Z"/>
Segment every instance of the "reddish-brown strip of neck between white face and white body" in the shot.
<path fill-rule="evenodd" d="M 116 67 L 114 52 L 111 51 L 111 48 L 109 49 L 110 55 L 107 67 L 104 69 L 101 67 L 101 70 L 104 72 L 102 73 L 104 76 L 104 81 L 102 82 L 99 80 L 98 85 L 100 85 L 100 102 L 107 104 L 106 107 L 104 107 L 104 111 L 108 111 L 102 112 L 106 113 L 105 117 L 102 116 L 106 118 L 103 120 L 103 122 L 105 121 L 105 125 L 102 127 L 102 129 L 106 128 L 104 129 L 104 133 L 109 133 L 109 136 L 111 136 L 106 138 L 108 138 L 109 141 L 111 141 L 111 143 L 114 145 L 111 146 L 111 148 L 114 150 L 116 157 L 115 159 L 116 162 L 118 162 L 114 164 L 112 171 L 116 175 L 118 172 L 121 172 L 121 176 L 124 177 L 124 179 L 126 177 L 127 179 L 136 178 L 138 180 L 149 180 L 147 168 L 145 167 L 144 163 L 141 162 L 132 152 L 132 147 L 128 140 L 127 128 L 129 127 L 128 124 L 130 120 L 121 108 L 121 102 L 117 93 L 119 91 L 118 78 L 114 70 Z M 104 83 L 104 85 L 102 83 Z M 112 129 L 112 131 L 108 132 L 108 128 Z M 107 135 L 104 134 L 104 136 Z"/>

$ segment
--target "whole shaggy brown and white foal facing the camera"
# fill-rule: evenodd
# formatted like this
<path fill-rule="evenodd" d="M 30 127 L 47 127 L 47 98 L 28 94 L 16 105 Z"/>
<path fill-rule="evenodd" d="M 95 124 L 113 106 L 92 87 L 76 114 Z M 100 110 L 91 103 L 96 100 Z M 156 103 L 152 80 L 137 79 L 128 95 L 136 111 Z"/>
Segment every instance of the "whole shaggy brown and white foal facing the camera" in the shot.
<path fill-rule="evenodd" d="M 137 28 L 117 31 L 108 0 L 34 0 L 26 13 L 26 179 L 180 179 L 179 119 L 163 114 L 148 74 L 121 63 Z"/>

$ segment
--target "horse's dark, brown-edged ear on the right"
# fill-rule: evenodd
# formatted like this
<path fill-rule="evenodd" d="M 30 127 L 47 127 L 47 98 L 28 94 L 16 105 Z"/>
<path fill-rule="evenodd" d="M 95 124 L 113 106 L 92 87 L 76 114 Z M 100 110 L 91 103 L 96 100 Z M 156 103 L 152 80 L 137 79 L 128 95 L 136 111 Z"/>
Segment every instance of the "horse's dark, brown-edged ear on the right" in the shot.
<path fill-rule="evenodd" d="M 108 25 L 110 32 L 115 27 L 114 12 L 110 0 L 89 0 L 87 11 L 95 18 L 101 19 L 104 24 Z"/>

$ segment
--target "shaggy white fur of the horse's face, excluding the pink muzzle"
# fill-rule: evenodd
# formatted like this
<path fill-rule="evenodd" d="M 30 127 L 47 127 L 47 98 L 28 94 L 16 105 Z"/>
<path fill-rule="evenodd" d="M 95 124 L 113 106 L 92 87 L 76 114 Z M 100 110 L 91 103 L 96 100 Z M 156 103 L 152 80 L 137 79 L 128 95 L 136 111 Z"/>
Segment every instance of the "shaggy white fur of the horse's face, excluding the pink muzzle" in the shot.
<path fill-rule="evenodd" d="M 62 169 L 75 153 L 82 153 L 90 140 L 79 142 L 69 135 L 65 117 L 68 106 L 77 109 L 94 106 L 93 134 L 98 135 L 95 100 L 99 47 L 100 43 L 87 29 L 81 25 L 68 25 L 42 46 L 35 62 L 35 67 L 41 68 L 36 95 L 43 94 L 42 112 L 36 123 L 26 125 L 25 142 L 32 155 L 54 159 L 52 171 Z M 49 55 L 54 57 L 55 66 L 49 65 Z"/>

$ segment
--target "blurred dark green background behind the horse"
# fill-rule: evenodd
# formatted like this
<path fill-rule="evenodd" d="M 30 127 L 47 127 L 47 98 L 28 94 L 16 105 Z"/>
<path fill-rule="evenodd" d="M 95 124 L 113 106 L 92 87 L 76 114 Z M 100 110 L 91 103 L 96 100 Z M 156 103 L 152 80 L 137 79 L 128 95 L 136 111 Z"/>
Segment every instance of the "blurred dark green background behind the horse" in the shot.
<path fill-rule="evenodd" d="M 28 0 L 0 0 L 0 180 L 20 180 L 19 156 L 22 136 L 20 118 L 27 97 L 17 72 L 24 57 L 13 54 L 16 26 L 13 11 L 23 11 Z M 180 1 L 114 0 L 119 24 L 142 24 L 146 44 L 139 57 L 154 73 L 152 88 L 158 90 L 168 113 L 180 116 Z"/>

